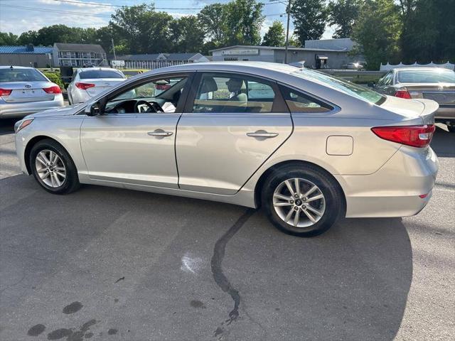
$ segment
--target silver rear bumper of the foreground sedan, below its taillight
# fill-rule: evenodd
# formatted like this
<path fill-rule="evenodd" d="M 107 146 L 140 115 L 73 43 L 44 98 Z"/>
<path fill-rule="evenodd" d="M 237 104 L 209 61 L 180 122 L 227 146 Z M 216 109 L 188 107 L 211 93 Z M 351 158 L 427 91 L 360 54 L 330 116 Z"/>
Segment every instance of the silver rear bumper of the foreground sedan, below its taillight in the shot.
<path fill-rule="evenodd" d="M 346 194 L 346 217 L 417 215 L 432 197 L 438 166 L 431 148 L 402 146 L 373 174 L 335 175 Z"/>

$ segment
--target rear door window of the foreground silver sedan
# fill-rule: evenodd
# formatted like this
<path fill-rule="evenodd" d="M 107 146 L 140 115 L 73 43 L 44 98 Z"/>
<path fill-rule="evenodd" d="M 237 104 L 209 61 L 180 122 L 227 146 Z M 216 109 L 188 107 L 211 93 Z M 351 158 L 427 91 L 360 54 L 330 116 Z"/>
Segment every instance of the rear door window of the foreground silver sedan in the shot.
<path fill-rule="evenodd" d="M 235 74 L 205 73 L 193 112 L 272 112 L 274 99 L 270 82 Z"/>

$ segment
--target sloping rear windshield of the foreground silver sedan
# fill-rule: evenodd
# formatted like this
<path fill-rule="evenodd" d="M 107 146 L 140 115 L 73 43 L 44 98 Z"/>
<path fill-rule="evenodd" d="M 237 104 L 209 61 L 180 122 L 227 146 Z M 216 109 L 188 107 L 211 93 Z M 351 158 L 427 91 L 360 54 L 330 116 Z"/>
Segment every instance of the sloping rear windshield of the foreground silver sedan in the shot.
<path fill-rule="evenodd" d="M 301 77 L 306 80 L 318 80 L 328 87 L 340 90 L 345 94 L 357 97 L 358 99 L 362 99 L 365 102 L 381 104 L 386 99 L 386 97 L 382 96 L 382 94 L 378 94 L 378 92 L 370 90 L 367 87 L 362 87 L 361 85 L 356 85 L 354 83 L 347 82 L 346 80 L 341 80 L 340 78 L 326 75 L 322 72 L 302 69 L 291 72 L 291 75 Z"/>

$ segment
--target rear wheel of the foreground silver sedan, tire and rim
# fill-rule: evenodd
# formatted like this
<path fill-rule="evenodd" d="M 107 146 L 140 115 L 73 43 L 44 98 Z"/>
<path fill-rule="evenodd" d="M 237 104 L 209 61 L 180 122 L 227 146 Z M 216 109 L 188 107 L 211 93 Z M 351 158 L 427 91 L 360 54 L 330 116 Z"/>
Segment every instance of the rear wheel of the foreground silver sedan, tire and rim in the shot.
<path fill-rule="evenodd" d="M 343 212 L 343 193 L 314 166 L 284 166 L 264 182 L 262 204 L 275 227 L 298 237 L 326 232 Z"/>

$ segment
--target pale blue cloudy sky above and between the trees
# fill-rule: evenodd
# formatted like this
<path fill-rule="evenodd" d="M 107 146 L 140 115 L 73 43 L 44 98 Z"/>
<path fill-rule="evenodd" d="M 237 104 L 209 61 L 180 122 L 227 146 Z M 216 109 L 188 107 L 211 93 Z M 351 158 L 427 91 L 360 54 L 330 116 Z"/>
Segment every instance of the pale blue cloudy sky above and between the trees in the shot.
<path fill-rule="evenodd" d="M 279 2 L 278 2 L 279 1 Z M 38 30 L 43 26 L 58 23 L 74 27 L 106 26 L 110 14 L 117 6 L 142 4 L 146 0 L 0 0 L 0 31 L 21 34 L 24 31 Z M 201 8 L 215 2 L 228 0 L 154 0 L 157 11 L 166 11 L 179 18 L 197 14 Z M 287 16 L 284 13 L 286 0 L 262 0 L 263 13 L 266 16 L 262 25 L 262 36 L 274 20 L 282 21 L 286 27 Z M 87 3 L 97 5 L 87 5 Z M 280 16 L 281 15 L 281 16 Z M 292 32 L 292 25 L 290 33 Z M 332 28 L 326 28 L 322 38 L 331 38 Z"/>

